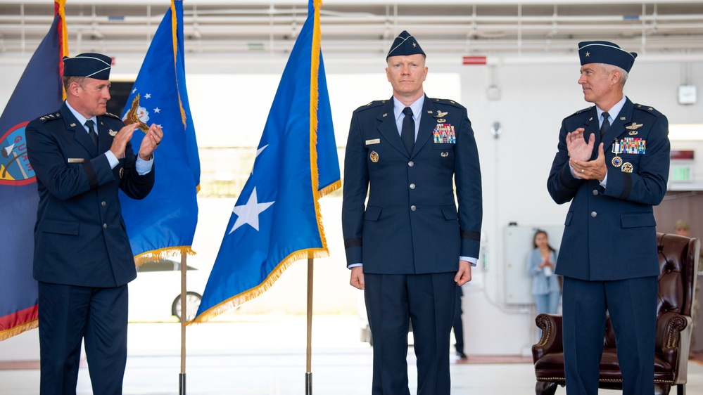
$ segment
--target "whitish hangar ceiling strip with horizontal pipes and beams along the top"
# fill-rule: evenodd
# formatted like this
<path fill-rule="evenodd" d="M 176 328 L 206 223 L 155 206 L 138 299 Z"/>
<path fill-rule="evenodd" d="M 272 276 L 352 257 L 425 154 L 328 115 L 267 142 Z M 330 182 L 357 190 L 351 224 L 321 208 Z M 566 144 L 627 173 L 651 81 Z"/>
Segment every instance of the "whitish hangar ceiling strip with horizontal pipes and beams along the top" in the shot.
<path fill-rule="evenodd" d="M 144 53 L 170 2 L 66 3 L 71 53 Z M 185 48 L 208 58 L 284 54 L 307 12 L 305 1 L 185 0 Z M 50 0 L 0 0 L 0 58 L 32 53 L 52 17 Z M 321 26 L 328 56 L 378 56 L 402 30 L 447 56 L 564 55 L 591 39 L 647 54 L 703 54 L 703 1 L 327 0 Z"/>

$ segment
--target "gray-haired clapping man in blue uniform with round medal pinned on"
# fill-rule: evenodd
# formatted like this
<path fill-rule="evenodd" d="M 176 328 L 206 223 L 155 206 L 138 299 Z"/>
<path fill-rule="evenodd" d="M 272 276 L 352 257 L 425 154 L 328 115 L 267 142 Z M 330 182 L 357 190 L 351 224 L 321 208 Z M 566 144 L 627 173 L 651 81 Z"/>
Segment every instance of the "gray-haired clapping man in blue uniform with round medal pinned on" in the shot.
<path fill-rule="evenodd" d="M 547 189 L 571 202 L 556 273 L 564 276 L 566 393 L 597 394 L 606 311 L 623 394 L 654 393 L 657 235 L 652 206 L 666 193 L 669 124 L 623 86 L 636 53 L 607 41 L 578 44 L 585 101 L 566 117 Z"/>

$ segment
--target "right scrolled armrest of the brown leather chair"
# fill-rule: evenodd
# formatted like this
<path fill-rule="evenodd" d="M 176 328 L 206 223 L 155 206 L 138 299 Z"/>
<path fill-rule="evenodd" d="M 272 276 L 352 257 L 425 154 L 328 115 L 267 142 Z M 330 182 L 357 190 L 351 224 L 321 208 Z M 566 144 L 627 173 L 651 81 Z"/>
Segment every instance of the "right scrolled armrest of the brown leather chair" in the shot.
<path fill-rule="evenodd" d="M 674 370 L 677 370 L 681 358 L 688 359 L 691 323 L 690 317 L 672 311 L 661 314 L 657 319 L 655 349 Z"/>

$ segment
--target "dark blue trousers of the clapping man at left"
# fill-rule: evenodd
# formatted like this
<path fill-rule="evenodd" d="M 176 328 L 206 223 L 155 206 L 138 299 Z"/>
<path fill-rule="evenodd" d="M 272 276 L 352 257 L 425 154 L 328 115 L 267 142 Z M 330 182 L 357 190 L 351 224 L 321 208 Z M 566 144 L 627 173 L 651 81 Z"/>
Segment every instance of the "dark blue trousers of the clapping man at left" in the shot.
<path fill-rule="evenodd" d="M 75 395 L 82 341 L 93 393 L 122 394 L 127 302 L 127 285 L 98 288 L 39 282 L 42 395 Z"/>

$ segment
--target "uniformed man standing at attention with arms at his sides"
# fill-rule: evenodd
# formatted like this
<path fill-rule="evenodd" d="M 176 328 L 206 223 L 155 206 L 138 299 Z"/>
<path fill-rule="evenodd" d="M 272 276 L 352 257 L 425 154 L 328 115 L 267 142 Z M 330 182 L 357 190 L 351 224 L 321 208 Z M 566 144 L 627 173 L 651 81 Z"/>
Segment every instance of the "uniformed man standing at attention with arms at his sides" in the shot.
<path fill-rule="evenodd" d="M 344 160 L 342 226 L 350 283 L 365 290 L 373 394 L 450 394 L 457 284 L 479 256 L 481 171 L 467 109 L 425 96 L 425 53 L 407 32 L 386 57 L 393 96 L 355 110 Z M 455 202 L 455 190 L 458 209 Z M 368 201 L 367 201 L 368 194 Z"/>

